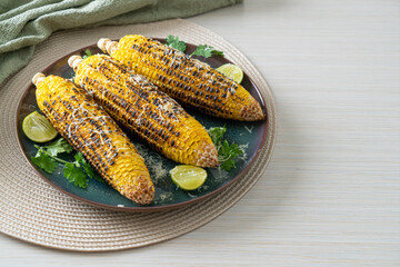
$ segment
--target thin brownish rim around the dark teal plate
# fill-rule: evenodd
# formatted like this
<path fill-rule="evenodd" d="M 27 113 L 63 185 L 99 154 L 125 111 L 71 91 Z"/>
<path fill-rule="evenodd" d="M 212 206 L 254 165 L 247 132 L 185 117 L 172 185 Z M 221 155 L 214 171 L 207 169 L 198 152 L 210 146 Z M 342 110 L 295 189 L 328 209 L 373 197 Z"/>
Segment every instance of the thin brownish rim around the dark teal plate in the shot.
<path fill-rule="evenodd" d="M 156 38 L 156 37 L 150 37 L 150 39 L 153 39 L 153 40 L 157 40 L 157 41 L 164 41 L 166 38 Z M 113 41 L 118 41 L 119 39 L 113 39 Z M 197 46 L 197 44 L 193 44 L 193 43 L 190 43 L 190 42 L 186 42 L 188 47 L 190 46 Z M 92 43 L 92 44 L 89 44 L 89 46 L 84 46 L 84 47 L 81 47 L 79 49 L 76 49 L 74 51 L 68 53 L 68 55 L 64 55 L 62 57 L 60 57 L 59 59 L 54 60 L 53 62 L 51 62 L 49 66 L 47 66 L 42 71 L 42 73 L 44 75 L 48 75 L 48 71 L 49 69 L 51 69 L 57 62 L 61 61 L 61 60 L 64 60 L 64 59 L 68 59 L 70 58 L 71 56 L 73 55 L 80 55 L 81 51 L 84 51 L 86 49 L 90 49 L 90 48 L 98 48 L 96 43 Z M 106 53 L 107 55 L 107 53 Z M 233 63 L 232 61 L 230 61 L 229 59 L 227 58 L 223 58 L 223 60 L 227 61 L 227 63 Z M 49 73 L 50 75 L 50 73 Z M 114 210 L 114 211 L 126 211 L 126 212 L 157 212 L 157 211 L 168 211 L 168 210 L 173 210 L 173 209 L 179 209 L 179 208 L 183 208 L 183 207 L 188 207 L 188 206 L 192 206 L 197 202 L 200 202 L 200 201 L 203 201 L 219 192 L 222 192 L 224 189 L 227 189 L 229 186 L 233 185 L 234 182 L 237 182 L 238 180 L 240 180 L 250 169 L 251 166 L 253 166 L 253 164 L 256 162 L 256 160 L 259 158 L 260 156 L 260 152 L 262 150 L 262 148 L 264 147 L 266 142 L 267 142 L 267 138 L 269 136 L 269 132 L 270 132 L 270 119 L 269 119 L 269 112 L 268 112 L 268 108 L 267 108 L 267 105 L 266 105 L 266 99 L 263 97 L 263 95 L 261 93 L 261 90 L 259 89 L 259 87 L 256 85 L 256 82 L 243 71 L 243 75 L 249 79 L 249 81 L 251 82 L 251 85 L 253 86 L 253 88 L 256 89 L 258 96 L 260 97 L 260 105 L 261 105 L 261 108 L 262 110 L 266 112 L 266 119 L 264 119 L 264 125 L 266 125 L 266 131 L 264 134 L 262 135 L 262 139 L 261 139 L 261 142 L 260 142 L 260 146 L 257 148 L 257 151 L 256 151 L 256 155 L 254 157 L 251 159 L 250 162 L 248 162 L 248 165 L 236 176 L 233 177 L 230 181 L 226 182 L 224 185 L 222 185 L 221 187 L 217 188 L 216 190 L 213 191 L 210 191 L 206 195 L 202 195 L 202 196 L 199 196 L 197 198 L 192 198 L 192 199 L 189 199 L 187 201 L 183 201 L 183 202 L 178 202 L 178 204 L 169 204 L 169 205 L 163 205 L 163 206 L 138 206 L 138 207 L 121 207 L 121 206 L 114 206 L 114 205 L 109 205 L 109 204 L 101 204 L 101 202 L 97 202 L 97 201 L 93 201 L 93 200 L 90 200 L 90 199 L 87 199 L 87 198 L 83 198 L 83 197 L 80 197 L 76 194 L 72 194 L 70 191 L 67 191 L 64 189 L 62 189 L 61 187 L 57 186 L 56 184 L 51 182 L 44 175 L 42 175 L 37 166 L 34 166 L 31 160 L 29 160 L 28 158 L 28 155 L 26 154 L 26 151 L 23 150 L 22 148 L 22 144 L 21 144 L 21 140 L 19 138 L 19 135 L 18 135 L 18 130 L 19 130 L 19 116 L 20 116 L 20 111 L 21 111 L 21 106 L 22 106 L 22 100 L 26 98 L 26 96 L 28 95 L 29 90 L 31 89 L 31 87 L 34 87 L 30 80 L 29 82 L 29 86 L 24 89 L 22 96 L 20 97 L 19 99 L 19 102 L 18 102 L 18 106 L 17 106 L 17 118 L 16 118 L 16 132 L 17 132 L 17 140 L 18 140 L 18 146 L 19 146 L 19 149 L 20 151 L 22 152 L 22 156 L 23 158 L 28 161 L 28 164 L 33 168 L 33 170 L 36 171 L 36 174 L 41 177 L 43 180 L 46 180 L 46 182 L 48 182 L 50 186 L 52 186 L 53 188 L 56 188 L 57 190 L 72 197 L 72 198 L 76 198 L 82 202 L 87 202 L 89 205 L 92 205 L 94 207 L 98 207 L 98 208 L 103 208 L 103 209 L 108 209 L 108 210 Z M 108 185 L 108 184 L 107 184 Z M 110 186 L 110 185 L 108 185 Z M 111 186 L 110 186 L 111 187 Z M 112 187 L 111 187 L 112 188 Z M 114 188 L 112 188 L 113 190 L 116 190 Z"/>

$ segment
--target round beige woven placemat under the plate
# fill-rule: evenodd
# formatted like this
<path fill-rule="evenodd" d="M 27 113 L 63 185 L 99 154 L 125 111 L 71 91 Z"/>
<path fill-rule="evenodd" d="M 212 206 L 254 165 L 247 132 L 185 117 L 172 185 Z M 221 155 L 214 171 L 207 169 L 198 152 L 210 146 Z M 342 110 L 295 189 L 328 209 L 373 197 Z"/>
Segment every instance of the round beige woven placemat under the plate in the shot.
<path fill-rule="evenodd" d="M 76 200 L 38 177 L 17 141 L 17 106 L 31 77 L 60 57 L 101 37 L 128 33 L 180 36 L 224 51 L 260 88 L 269 120 L 267 142 L 247 175 L 221 194 L 187 208 L 153 214 L 104 210 Z M 117 250 L 146 246 L 191 231 L 237 202 L 257 181 L 270 159 L 276 135 L 272 93 L 261 75 L 234 47 L 216 33 L 186 20 L 60 31 L 37 47 L 31 62 L 0 88 L 0 231 L 42 246 L 68 250 Z"/>

